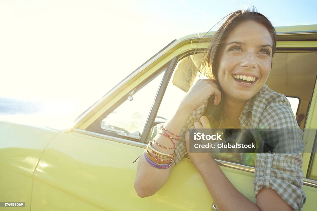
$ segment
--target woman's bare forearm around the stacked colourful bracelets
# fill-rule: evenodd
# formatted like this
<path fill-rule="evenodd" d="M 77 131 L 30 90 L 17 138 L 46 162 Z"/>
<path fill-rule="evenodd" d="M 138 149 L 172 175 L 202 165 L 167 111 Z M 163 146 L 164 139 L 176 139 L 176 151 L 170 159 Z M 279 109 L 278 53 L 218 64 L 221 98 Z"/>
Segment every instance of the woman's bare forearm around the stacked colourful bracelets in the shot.
<path fill-rule="evenodd" d="M 175 115 L 165 124 L 165 128 L 172 133 L 180 134 L 185 121 L 187 120 L 191 111 L 184 107 L 179 107 Z M 156 142 L 162 146 L 173 147 L 171 140 L 163 135 L 156 136 Z M 174 141 L 177 144 L 177 141 Z M 173 154 L 173 149 L 164 149 L 157 145 L 152 145 L 156 150 Z M 142 154 L 139 160 L 137 175 L 134 181 L 134 189 L 140 197 L 147 197 L 154 195 L 167 181 L 170 173 L 171 167 L 167 169 L 157 169 L 147 163 L 144 155 Z"/>

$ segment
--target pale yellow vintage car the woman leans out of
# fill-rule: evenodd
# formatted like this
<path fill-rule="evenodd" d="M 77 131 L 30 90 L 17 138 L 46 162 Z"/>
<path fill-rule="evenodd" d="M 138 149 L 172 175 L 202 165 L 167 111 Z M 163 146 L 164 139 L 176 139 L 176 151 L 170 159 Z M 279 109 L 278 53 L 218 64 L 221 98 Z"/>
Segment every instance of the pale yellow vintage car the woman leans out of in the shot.
<path fill-rule="evenodd" d="M 276 31 L 267 84 L 289 97 L 304 130 L 303 210 L 316 210 L 317 25 Z M 191 74 L 207 46 L 199 40 L 189 35 L 171 42 L 66 130 L 0 122 L 0 202 L 25 202 L 25 207 L 0 210 L 217 210 L 188 157 L 173 167 L 154 196 L 140 198 L 133 187 L 137 164 L 132 161 L 173 115 L 191 77 L 204 78 Z M 231 183 L 255 202 L 255 167 L 230 159 L 217 162 Z"/>

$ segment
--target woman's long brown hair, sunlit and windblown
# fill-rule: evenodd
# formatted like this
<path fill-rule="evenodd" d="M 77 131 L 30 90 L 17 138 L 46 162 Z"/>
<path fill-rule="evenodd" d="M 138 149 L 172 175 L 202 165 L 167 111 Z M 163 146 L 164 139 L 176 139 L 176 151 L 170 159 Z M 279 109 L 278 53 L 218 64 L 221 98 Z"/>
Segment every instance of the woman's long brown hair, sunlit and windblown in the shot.
<path fill-rule="evenodd" d="M 228 18 L 225 19 L 226 17 Z M 221 86 L 217 80 L 219 55 L 221 53 L 221 49 L 223 49 L 224 41 L 227 39 L 228 34 L 236 26 L 238 26 L 239 24 L 245 21 L 255 21 L 259 24 L 262 24 L 265 28 L 268 29 L 268 32 L 270 33 L 273 40 L 272 57 L 276 49 L 275 28 L 273 27 L 272 23 L 268 20 L 267 17 L 265 17 L 264 15 L 256 11 L 255 7 L 253 7 L 252 9 L 237 10 L 226 17 L 223 19 L 225 20 L 223 24 L 217 30 L 215 35 L 211 38 L 210 45 L 207 48 L 207 52 L 202 61 L 201 69 L 199 70 L 202 74 L 207 76 L 209 79 L 216 80 L 216 83 L 220 89 L 221 89 Z M 203 40 L 204 40 L 204 37 L 201 39 L 201 42 Z M 223 112 L 223 100 L 221 100 L 221 102 L 217 106 L 215 106 L 213 104 L 214 98 L 215 96 L 211 96 L 209 98 L 208 106 L 207 106 L 207 109 L 205 110 L 204 115 L 208 117 L 211 124 L 213 122 L 217 124 L 217 125 L 212 124 L 214 125 L 213 127 L 218 127 L 218 124 Z"/>

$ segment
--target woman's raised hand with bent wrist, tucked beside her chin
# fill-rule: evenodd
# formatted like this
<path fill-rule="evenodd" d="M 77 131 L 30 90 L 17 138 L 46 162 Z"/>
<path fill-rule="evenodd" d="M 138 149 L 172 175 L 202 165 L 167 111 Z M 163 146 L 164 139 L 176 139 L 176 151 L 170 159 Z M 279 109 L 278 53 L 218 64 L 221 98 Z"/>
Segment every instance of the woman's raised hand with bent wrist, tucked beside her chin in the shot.
<path fill-rule="evenodd" d="M 180 103 L 180 107 L 193 111 L 198 109 L 212 95 L 216 96 L 214 104 L 218 105 L 221 100 L 221 91 L 215 80 L 199 79 L 187 92 Z"/>

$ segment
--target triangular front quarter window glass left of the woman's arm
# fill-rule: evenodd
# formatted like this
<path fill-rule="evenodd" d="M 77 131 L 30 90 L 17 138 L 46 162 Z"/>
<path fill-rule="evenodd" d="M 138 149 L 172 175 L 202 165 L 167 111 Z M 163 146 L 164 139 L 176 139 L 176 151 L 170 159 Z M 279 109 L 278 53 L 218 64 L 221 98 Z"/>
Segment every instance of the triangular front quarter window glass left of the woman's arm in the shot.
<path fill-rule="evenodd" d="M 131 91 L 128 99 L 101 121 L 100 127 L 104 131 L 140 139 L 164 72 L 140 90 Z"/>

